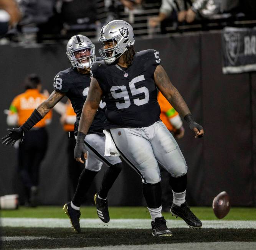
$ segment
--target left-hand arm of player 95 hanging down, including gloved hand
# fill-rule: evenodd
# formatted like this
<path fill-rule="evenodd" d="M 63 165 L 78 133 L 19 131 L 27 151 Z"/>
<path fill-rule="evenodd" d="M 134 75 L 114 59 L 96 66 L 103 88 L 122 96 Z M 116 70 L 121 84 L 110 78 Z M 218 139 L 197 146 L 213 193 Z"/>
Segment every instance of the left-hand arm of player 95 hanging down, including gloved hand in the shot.
<path fill-rule="evenodd" d="M 76 146 L 74 149 L 74 158 L 76 161 L 84 163 L 81 156 L 84 156 L 84 159 L 87 159 L 86 149 L 84 146 L 84 138 L 92 124 L 94 116 L 99 108 L 99 103 L 102 99 L 102 89 L 99 86 L 96 78 L 92 77 L 89 92 L 86 98 L 86 101 L 83 106 L 81 118 L 79 121 L 78 127 L 78 136 L 76 138 Z"/>

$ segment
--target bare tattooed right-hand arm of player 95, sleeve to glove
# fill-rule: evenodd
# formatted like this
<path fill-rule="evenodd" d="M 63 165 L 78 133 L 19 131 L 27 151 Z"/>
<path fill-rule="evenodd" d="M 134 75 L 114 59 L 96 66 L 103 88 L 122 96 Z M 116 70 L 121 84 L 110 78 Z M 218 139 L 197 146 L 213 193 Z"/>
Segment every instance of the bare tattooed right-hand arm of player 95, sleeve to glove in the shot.
<path fill-rule="evenodd" d="M 158 65 L 155 69 L 154 81 L 157 88 L 182 117 L 185 117 L 185 115 L 191 113 L 183 97 L 172 85 L 172 82 L 161 65 Z"/>

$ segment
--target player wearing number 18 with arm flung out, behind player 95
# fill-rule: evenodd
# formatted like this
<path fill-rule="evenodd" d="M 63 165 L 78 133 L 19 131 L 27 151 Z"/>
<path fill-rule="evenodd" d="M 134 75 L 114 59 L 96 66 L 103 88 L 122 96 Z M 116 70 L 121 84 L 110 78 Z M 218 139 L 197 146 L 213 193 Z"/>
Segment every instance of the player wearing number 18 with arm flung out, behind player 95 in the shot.
<path fill-rule="evenodd" d="M 22 138 L 24 132 L 30 130 L 33 125 L 40 121 L 65 95 L 70 99 L 76 113 L 74 134 L 77 135 L 79 119 L 91 81 L 90 68 L 92 63 L 96 61 L 94 52 L 95 46 L 86 36 L 75 35 L 69 39 L 66 53 L 73 67 L 69 67 L 55 76 L 53 84 L 55 90 L 49 98 L 34 110 L 30 118 L 21 127 L 8 129 L 10 133 L 2 138 L 3 144 L 12 143 L 13 145 L 15 141 Z M 83 143 L 88 155 L 85 168 L 79 177 L 72 201 L 63 207 L 77 232 L 81 231 L 79 207 L 84 201 L 85 194 L 91 186 L 93 178 L 99 172 L 103 163 L 106 163 L 110 168 L 104 174 L 101 189 L 95 194 L 94 201 L 99 218 L 103 222 L 109 222 L 107 193 L 122 169 L 122 162 L 119 157 L 104 156 L 105 135 L 103 133 L 103 123 L 106 120 L 104 115 L 105 106 L 106 103 L 101 101 L 89 128 L 88 135 L 84 139 Z"/>

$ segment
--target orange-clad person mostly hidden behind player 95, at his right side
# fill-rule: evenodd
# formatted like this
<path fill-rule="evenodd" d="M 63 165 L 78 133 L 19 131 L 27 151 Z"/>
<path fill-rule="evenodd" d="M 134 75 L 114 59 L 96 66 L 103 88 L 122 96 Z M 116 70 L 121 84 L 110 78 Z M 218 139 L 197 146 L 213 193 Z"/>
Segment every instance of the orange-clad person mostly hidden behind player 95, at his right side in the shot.
<path fill-rule="evenodd" d="M 166 100 L 160 91 L 158 92 L 157 100 L 161 109 L 160 119 L 162 122 L 175 138 L 183 138 L 185 129 L 178 112 L 172 107 L 172 105 L 170 105 L 170 103 Z M 171 201 L 173 200 L 172 189 L 168 185 L 170 174 L 162 167 L 160 168 L 160 173 L 162 178 L 162 211 L 170 212 Z"/>

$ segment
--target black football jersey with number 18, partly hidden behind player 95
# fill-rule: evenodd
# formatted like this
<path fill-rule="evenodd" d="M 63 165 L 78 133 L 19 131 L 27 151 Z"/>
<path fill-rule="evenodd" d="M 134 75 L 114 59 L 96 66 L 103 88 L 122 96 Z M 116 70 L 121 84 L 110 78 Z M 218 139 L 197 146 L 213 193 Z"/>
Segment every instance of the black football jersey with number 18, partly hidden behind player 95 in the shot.
<path fill-rule="evenodd" d="M 70 67 L 64 71 L 60 71 L 54 78 L 54 89 L 59 92 L 64 92 L 71 101 L 74 112 L 76 113 L 76 123 L 74 134 L 77 135 L 79 120 L 81 117 L 82 109 L 91 82 L 89 74 L 81 74 L 76 68 Z M 103 134 L 103 124 L 106 120 L 105 117 L 106 103 L 100 103 L 99 109 L 94 117 L 88 133 Z"/>

